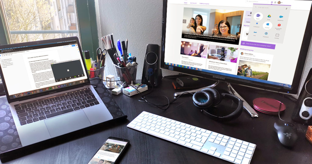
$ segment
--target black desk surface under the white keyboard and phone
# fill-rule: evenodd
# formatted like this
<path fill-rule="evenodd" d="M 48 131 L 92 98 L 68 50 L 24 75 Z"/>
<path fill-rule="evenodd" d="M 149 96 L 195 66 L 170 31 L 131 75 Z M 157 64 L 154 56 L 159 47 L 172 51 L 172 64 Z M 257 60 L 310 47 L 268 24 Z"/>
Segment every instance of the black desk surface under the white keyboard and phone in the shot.
<path fill-rule="evenodd" d="M 173 99 L 171 82 L 174 79 L 162 80 L 161 86 L 154 88 L 150 95 L 166 95 Z M 250 88 L 234 86 L 252 106 L 257 97 L 275 98 L 286 105 L 282 119 L 290 119 L 295 103 L 282 97 L 279 93 L 256 91 Z M 147 93 L 149 91 L 143 92 Z M 243 111 L 241 116 L 231 122 L 217 122 L 209 119 L 193 105 L 191 96 L 180 97 L 167 110 L 163 111 L 139 102 L 140 96 L 128 97 L 123 94 L 114 95 L 114 99 L 127 119 L 102 123 L 94 127 L 80 130 L 71 135 L 58 138 L 60 141 L 38 147 L 33 153 L 19 157 L 6 163 L 88 163 L 94 153 L 101 147 L 107 137 L 119 137 L 130 140 L 130 146 L 124 152 L 120 163 L 228 163 L 201 152 L 168 142 L 147 134 L 127 128 L 127 124 L 142 111 L 151 112 L 180 122 L 188 123 L 213 132 L 256 144 L 251 163 L 312 163 L 312 145 L 306 140 L 306 125 L 296 124 L 299 138 L 292 149 L 283 147 L 274 131 L 274 122 L 278 116 L 258 112 L 258 118 L 251 118 Z M 159 98 L 150 98 L 154 102 Z M 33 148 L 35 149 L 35 148 Z"/>

